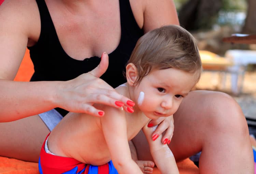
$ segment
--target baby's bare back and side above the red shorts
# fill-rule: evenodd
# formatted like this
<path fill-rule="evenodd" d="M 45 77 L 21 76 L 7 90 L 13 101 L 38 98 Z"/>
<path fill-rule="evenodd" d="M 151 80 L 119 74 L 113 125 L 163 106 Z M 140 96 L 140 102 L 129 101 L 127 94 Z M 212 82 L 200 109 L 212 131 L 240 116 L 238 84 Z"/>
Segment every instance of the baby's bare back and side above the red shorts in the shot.
<path fill-rule="evenodd" d="M 102 165 L 111 160 L 100 124 L 100 117 L 69 113 L 48 139 L 49 151 L 83 163 Z"/>

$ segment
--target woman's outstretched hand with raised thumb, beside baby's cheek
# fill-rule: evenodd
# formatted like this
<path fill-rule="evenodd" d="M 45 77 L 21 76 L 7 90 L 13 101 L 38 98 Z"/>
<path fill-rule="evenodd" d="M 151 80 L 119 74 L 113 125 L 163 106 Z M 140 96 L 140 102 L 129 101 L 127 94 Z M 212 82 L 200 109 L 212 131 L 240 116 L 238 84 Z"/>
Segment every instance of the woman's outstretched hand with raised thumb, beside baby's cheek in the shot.
<path fill-rule="evenodd" d="M 93 104 L 99 103 L 116 108 L 134 106 L 133 101 L 118 94 L 109 84 L 99 78 L 108 68 L 108 64 L 108 54 L 104 52 L 100 64 L 95 69 L 75 79 L 59 82 L 56 94 L 58 107 L 70 112 L 103 116 L 104 112 L 96 109 Z"/>

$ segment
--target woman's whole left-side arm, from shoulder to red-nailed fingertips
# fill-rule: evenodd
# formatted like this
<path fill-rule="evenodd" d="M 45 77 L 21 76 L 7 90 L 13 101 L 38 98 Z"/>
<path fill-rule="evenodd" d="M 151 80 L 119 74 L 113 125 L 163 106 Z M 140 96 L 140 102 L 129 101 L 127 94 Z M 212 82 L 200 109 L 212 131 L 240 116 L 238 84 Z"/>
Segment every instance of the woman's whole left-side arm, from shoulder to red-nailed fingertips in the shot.
<path fill-rule="evenodd" d="M 31 18 L 33 16 L 33 18 Z M 101 103 L 113 107 L 124 97 L 99 79 L 108 67 L 108 55 L 93 71 L 70 81 L 14 82 L 26 46 L 40 35 L 40 16 L 34 0 L 5 0 L 0 6 L 0 122 L 9 122 L 60 107 L 68 111 L 102 116 L 93 107 Z M 131 107 L 131 106 L 129 106 Z"/>

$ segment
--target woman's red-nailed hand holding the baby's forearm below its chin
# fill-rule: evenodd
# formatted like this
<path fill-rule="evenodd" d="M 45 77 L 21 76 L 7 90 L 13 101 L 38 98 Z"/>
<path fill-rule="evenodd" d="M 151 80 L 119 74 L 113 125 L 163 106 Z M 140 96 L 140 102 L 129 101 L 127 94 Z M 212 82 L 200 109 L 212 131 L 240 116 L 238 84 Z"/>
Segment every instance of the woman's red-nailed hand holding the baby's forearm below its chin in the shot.
<path fill-rule="evenodd" d="M 174 131 L 173 115 L 159 117 L 157 120 L 151 120 L 147 125 L 147 127 L 154 126 L 156 126 L 156 130 L 152 133 L 152 139 L 156 140 L 157 137 L 165 131 L 165 135 L 163 135 L 161 142 L 163 144 L 170 144 Z"/>

